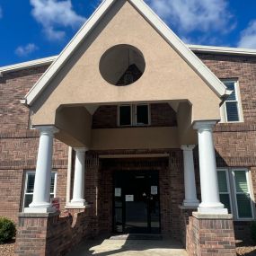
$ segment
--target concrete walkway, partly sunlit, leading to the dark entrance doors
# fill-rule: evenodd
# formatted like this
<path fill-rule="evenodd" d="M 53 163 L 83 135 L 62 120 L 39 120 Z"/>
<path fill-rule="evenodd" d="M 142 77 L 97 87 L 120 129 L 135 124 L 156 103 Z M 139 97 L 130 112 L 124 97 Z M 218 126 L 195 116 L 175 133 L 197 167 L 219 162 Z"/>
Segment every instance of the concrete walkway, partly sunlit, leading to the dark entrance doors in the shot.
<path fill-rule="evenodd" d="M 67 256 L 188 256 L 181 243 L 163 240 L 87 240 Z"/>

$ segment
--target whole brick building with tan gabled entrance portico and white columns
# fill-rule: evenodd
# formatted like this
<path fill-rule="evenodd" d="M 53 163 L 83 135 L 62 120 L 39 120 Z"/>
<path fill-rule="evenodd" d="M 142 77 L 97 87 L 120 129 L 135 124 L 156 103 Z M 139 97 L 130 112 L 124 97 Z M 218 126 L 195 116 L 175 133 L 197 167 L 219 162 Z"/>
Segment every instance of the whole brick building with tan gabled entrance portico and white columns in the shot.
<path fill-rule="evenodd" d="M 187 46 L 143 1 L 107 0 L 59 56 L 0 74 L 0 216 L 18 224 L 17 255 L 103 233 L 235 255 L 234 234 L 250 235 L 256 51 Z"/>

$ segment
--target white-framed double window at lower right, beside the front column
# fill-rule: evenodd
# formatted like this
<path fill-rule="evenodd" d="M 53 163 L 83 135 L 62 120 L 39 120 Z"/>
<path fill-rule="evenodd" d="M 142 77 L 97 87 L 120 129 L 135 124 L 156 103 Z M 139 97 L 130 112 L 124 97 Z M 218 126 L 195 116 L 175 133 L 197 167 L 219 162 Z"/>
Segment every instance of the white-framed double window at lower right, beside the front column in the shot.
<path fill-rule="evenodd" d="M 220 201 L 237 220 L 253 218 L 253 199 L 249 177 L 247 169 L 217 169 Z"/>

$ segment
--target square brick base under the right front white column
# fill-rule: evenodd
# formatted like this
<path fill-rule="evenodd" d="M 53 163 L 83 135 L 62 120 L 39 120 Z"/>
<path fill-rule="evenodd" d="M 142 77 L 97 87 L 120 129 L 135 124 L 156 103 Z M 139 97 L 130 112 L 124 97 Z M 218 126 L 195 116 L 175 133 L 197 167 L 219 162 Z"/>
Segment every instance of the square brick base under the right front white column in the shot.
<path fill-rule="evenodd" d="M 190 256 L 235 256 L 232 215 L 208 215 L 193 212 L 187 230 Z"/>

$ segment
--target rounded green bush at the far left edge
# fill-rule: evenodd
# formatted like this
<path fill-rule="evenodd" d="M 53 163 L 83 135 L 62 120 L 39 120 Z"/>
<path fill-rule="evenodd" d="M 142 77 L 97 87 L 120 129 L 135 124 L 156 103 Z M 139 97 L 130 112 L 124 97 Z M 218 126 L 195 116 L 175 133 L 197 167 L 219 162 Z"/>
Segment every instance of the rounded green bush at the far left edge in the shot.
<path fill-rule="evenodd" d="M 13 239 L 16 228 L 12 220 L 0 217 L 0 243 L 5 243 Z"/>

